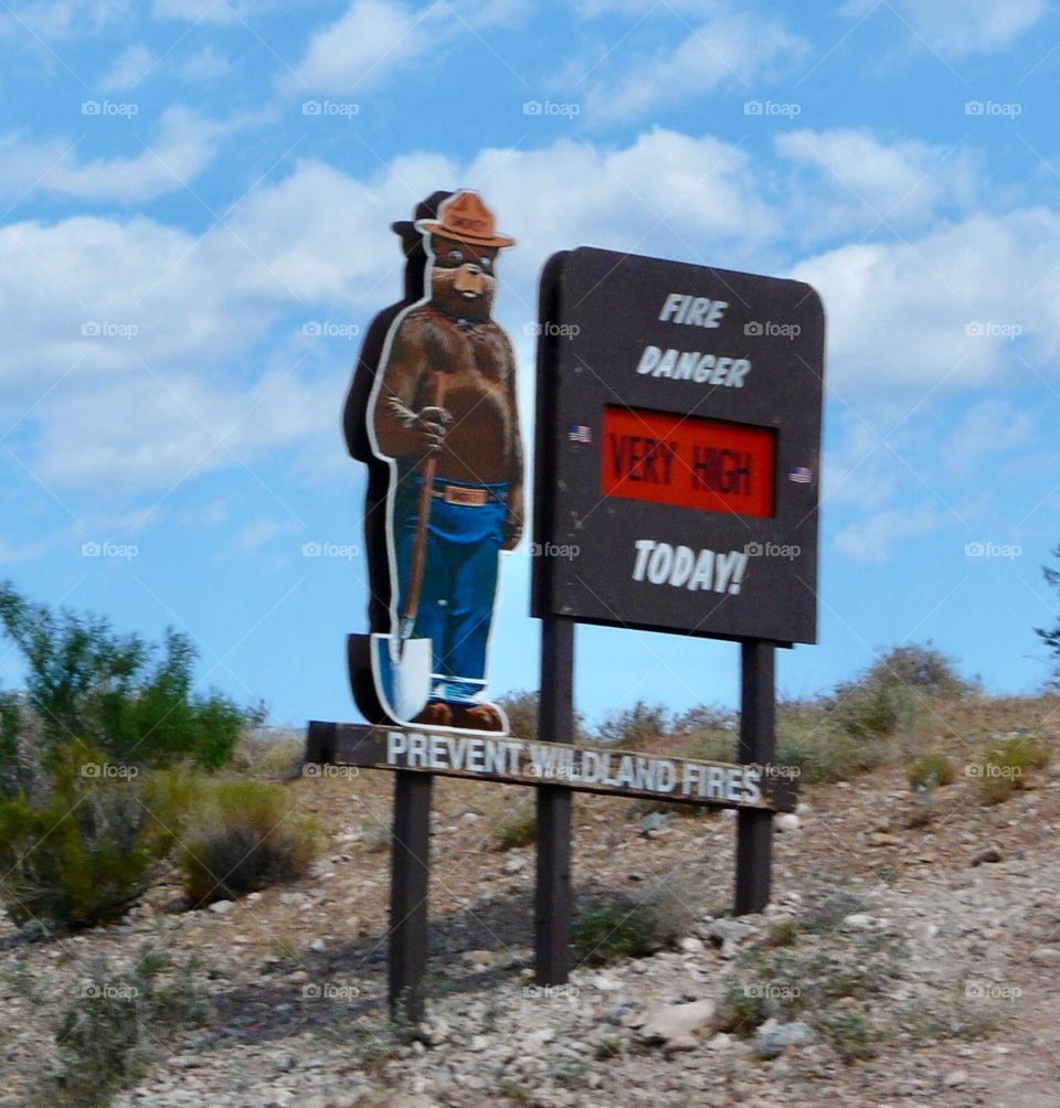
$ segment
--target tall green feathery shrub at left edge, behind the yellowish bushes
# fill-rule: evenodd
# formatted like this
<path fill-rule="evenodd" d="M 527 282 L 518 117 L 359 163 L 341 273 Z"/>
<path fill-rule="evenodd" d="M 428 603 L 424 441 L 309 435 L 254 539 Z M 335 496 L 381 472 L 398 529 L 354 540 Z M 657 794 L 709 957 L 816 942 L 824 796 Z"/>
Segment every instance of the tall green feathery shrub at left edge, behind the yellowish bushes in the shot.
<path fill-rule="evenodd" d="M 26 661 L 26 693 L 0 705 L 7 784 L 24 787 L 11 767 L 20 740 L 38 737 L 50 762 L 71 739 L 82 739 L 114 761 L 163 765 L 191 758 L 223 766 L 244 724 L 228 699 L 192 687 L 191 640 L 166 632 L 161 649 L 136 635 L 118 635 L 99 616 L 52 612 L 8 583 L 0 585 L 0 627 Z"/>

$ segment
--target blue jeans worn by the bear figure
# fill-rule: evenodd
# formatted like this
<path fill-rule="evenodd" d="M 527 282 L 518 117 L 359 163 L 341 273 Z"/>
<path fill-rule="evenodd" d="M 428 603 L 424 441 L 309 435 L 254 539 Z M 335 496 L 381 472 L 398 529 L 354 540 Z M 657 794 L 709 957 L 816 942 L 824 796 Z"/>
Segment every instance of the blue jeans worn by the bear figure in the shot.
<path fill-rule="evenodd" d="M 405 473 L 394 496 L 399 615 L 411 572 L 421 485 L 420 476 Z M 431 497 L 424 587 L 412 630 L 416 638 L 429 638 L 434 644 L 431 698 L 476 704 L 486 688 L 486 645 L 493 618 L 509 485 L 441 479 L 435 485 L 439 490 L 446 485 L 482 489 L 488 497 L 481 507 Z"/>

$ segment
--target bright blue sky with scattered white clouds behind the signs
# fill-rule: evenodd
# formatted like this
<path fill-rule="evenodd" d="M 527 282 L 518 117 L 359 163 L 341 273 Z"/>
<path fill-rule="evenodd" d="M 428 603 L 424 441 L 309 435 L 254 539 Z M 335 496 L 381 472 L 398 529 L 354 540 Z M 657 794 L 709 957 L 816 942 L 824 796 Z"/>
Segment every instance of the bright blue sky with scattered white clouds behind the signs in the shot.
<path fill-rule="evenodd" d="M 1056 4 L 9 0 L 0 50 L 0 577 L 34 598 L 185 630 L 203 684 L 277 722 L 355 718 L 342 402 L 397 298 L 390 222 L 463 186 L 519 240 L 497 316 L 528 439 L 554 250 L 821 291 L 821 642 L 782 653 L 784 693 L 929 638 L 992 690 L 1047 677 Z M 537 684 L 529 561 L 503 567 L 495 693 Z M 592 719 L 736 695 L 731 644 L 578 643 Z"/>

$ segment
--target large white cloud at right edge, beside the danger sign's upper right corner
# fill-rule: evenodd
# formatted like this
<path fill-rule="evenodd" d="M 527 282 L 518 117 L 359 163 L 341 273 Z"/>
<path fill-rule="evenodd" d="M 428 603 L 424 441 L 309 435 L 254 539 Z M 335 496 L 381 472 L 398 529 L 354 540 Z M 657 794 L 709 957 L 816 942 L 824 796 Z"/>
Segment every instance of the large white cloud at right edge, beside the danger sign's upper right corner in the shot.
<path fill-rule="evenodd" d="M 995 381 L 1060 352 L 1060 214 L 977 214 L 909 242 L 839 247 L 794 267 L 822 294 L 840 396 L 909 404 Z"/>

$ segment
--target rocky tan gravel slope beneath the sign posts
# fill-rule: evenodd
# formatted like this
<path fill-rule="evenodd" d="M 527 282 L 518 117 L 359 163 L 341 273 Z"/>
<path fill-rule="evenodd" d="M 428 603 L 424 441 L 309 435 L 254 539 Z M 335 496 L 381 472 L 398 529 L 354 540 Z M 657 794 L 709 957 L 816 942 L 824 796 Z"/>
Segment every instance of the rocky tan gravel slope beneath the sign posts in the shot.
<path fill-rule="evenodd" d="M 1056 748 L 1056 701 L 1029 721 Z M 383 773 L 289 786 L 329 848 L 314 875 L 190 912 L 173 874 L 121 925 L 0 931 L 0 1104 L 55 1104 L 54 1028 L 88 987 L 139 981 L 172 1019 L 116 1104 L 246 1106 L 991 1105 L 1060 1102 L 1060 758 L 1011 799 L 960 772 L 999 719 L 965 709 L 957 780 L 930 800 L 894 768 L 803 790 L 775 842 L 774 903 L 734 920 L 732 813 L 644 823 L 575 801 L 581 894 L 650 901 L 673 948 L 533 985 L 533 848 L 496 828 L 532 791 L 439 781 L 426 1023 L 386 1015 Z M 1026 718 L 1022 722 L 1028 722 Z M 661 827 L 655 824 L 661 823 Z M 115 997 L 121 1003 L 121 997 Z M 71 1090 L 71 1102 L 77 1090 Z"/>

